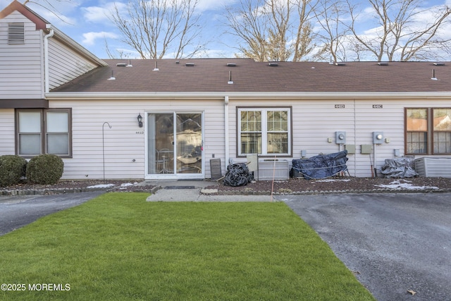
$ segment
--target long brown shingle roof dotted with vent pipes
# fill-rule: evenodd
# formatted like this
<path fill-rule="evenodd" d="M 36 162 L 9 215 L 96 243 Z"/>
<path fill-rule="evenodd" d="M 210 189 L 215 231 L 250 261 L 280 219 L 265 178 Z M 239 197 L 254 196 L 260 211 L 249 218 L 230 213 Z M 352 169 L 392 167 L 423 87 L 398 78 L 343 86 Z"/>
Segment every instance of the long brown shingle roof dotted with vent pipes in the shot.
<path fill-rule="evenodd" d="M 279 62 L 271 67 L 252 59 L 163 59 L 153 71 L 155 60 L 132 60 L 132 67 L 116 66 L 128 60 L 104 61 L 109 66 L 51 92 L 451 92 L 451 63 Z M 438 80 L 431 80 L 433 69 Z M 116 80 L 107 80 L 112 73 Z"/>

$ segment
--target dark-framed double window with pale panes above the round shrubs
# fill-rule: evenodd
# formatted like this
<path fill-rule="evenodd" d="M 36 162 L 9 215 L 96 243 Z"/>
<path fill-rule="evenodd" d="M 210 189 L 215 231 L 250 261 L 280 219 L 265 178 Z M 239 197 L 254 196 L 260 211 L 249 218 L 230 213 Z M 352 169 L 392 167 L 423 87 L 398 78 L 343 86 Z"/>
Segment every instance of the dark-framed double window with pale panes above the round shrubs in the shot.
<path fill-rule="evenodd" d="M 70 109 L 18 109 L 16 121 L 18 155 L 72 155 Z"/>

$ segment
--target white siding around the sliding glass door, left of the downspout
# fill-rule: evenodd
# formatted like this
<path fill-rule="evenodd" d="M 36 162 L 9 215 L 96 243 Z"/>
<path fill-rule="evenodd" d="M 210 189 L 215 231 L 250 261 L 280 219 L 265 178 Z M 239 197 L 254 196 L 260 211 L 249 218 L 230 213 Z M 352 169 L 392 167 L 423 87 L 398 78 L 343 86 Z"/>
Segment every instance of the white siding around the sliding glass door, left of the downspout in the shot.
<path fill-rule="evenodd" d="M 213 154 L 215 158 L 221 158 L 222 170 L 225 171 L 223 99 L 51 101 L 50 105 L 52 108 L 72 107 L 73 156 L 63 159 L 63 179 L 99 179 L 103 178 L 104 171 L 109 179 L 144 178 L 144 130 L 147 125 L 139 128 L 137 116 L 159 111 L 204 112 L 205 176 L 210 177 Z"/>

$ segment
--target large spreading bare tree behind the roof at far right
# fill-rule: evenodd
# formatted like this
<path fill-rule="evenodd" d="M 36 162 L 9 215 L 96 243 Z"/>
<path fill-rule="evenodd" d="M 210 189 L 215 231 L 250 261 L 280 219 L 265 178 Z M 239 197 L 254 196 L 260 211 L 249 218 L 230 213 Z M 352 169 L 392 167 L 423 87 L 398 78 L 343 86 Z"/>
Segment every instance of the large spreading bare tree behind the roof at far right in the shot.
<path fill-rule="evenodd" d="M 450 23 L 448 6 L 421 7 L 421 0 L 368 0 L 376 18 L 373 35 L 357 32 L 359 13 L 350 9 L 350 29 L 355 42 L 378 61 L 414 61 L 433 59 L 438 50 L 447 50 L 451 39 L 438 34 Z M 352 5 L 347 0 L 348 6 Z"/>

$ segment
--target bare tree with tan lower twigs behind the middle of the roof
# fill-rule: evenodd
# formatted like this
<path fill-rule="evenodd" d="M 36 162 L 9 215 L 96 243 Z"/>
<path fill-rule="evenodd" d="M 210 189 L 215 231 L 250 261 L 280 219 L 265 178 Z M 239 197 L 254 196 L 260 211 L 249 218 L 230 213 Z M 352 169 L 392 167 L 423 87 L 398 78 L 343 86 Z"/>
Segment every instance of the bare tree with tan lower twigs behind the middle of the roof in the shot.
<path fill-rule="evenodd" d="M 311 51 L 311 10 L 317 0 L 240 0 L 226 9 L 238 37 L 237 56 L 256 61 L 301 61 Z"/>

